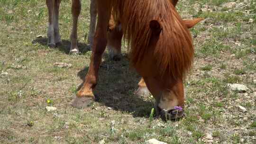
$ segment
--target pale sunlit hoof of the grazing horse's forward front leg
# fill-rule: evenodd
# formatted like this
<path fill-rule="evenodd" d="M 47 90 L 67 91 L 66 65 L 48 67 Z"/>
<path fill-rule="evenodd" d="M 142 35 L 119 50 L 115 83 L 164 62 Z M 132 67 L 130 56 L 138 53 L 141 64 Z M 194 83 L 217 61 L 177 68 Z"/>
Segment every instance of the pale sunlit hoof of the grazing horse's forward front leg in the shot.
<path fill-rule="evenodd" d="M 75 97 L 72 102 L 72 106 L 75 108 L 87 108 L 91 105 L 91 103 L 94 102 L 94 99 L 92 97 Z"/>

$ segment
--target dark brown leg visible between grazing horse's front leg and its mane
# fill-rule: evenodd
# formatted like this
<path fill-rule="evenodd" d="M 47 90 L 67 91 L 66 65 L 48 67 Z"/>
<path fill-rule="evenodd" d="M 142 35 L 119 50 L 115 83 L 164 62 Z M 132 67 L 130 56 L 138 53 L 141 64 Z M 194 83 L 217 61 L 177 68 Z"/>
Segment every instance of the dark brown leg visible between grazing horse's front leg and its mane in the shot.
<path fill-rule="evenodd" d="M 121 46 L 122 46 L 122 37 L 123 32 L 121 30 L 121 24 L 115 26 L 114 20 L 111 17 L 110 19 L 110 28 L 107 33 L 108 44 L 107 47 L 109 49 L 110 59 L 114 61 L 121 60 Z M 111 27 L 113 26 L 113 27 Z"/>

